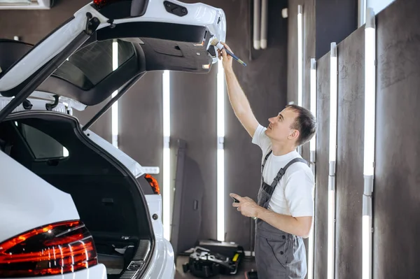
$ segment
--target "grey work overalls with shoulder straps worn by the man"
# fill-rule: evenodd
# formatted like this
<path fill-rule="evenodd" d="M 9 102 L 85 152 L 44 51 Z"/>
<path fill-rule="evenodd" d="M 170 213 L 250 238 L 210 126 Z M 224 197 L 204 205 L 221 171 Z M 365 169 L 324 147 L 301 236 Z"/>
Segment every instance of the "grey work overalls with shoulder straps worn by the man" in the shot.
<path fill-rule="evenodd" d="M 268 208 L 274 188 L 281 180 L 286 170 L 295 162 L 307 162 L 302 158 L 295 158 L 280 169 L 272 185 L 264 182 L 262 171 L 272 150 L 265 156 L 261 166 L 261 187 L 258 191 L 258 206 Z M 260 219 L 256 221 L 255 234 L 255 262 L 258 279 L 304 278 L 307 273 L 306 250 L 302 237 L 288 234 L 272 227 Z"/>

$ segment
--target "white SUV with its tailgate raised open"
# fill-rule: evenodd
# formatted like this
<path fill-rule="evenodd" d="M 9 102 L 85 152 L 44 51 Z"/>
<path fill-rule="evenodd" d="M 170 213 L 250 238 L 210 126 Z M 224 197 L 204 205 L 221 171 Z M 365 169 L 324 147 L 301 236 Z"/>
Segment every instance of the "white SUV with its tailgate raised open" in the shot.
<path fill-rule="evenodd" d="M 203 3 L 94 0 L 35 46 L 0 40 L 0 278 L 174 278 L 158 183 L 88 128 L 147 71 L 209 72 L 225 30 Z"/>

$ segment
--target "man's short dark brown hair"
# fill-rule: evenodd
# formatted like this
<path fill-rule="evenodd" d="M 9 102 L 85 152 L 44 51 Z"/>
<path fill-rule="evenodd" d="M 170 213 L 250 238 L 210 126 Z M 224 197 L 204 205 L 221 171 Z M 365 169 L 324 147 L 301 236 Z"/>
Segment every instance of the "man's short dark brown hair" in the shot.
<path fill-rule="evenodd" d="M 288 105 L 286 108 L 291 108 L 295 111 L 295 113 L 297 113 L 295 122 L 293 122 L 290 127 L 292 129 L 297 129 L 300 133 L 300 136 L 296 141 L 297 145 L 307 143 L 316 133 L 315 116 L 311 113 L 311 111 L 303 108 L 302 106 Z"/>

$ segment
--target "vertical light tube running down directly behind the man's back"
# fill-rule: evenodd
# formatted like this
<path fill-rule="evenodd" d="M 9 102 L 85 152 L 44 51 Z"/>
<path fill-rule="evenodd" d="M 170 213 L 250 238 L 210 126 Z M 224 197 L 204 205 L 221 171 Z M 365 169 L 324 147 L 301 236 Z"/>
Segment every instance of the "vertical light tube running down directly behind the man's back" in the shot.
<path fill-rule="evenodd" d="M 316 59 L 311 58 L 311 113 L 316 117 Z M 309 142 L 311 169 L 315 173 L 315 148 L 316 148 L 316 134 Z M 314 189 L 315 190 L 315 189 Z M 312 193 L 314 196 L 314 192 Z M 314 218 L 315 219 L 315 218 Z M 312 221 L 312 229 L 309 233 L 309 250 L 308 250 L 308 279 L 314 278 L 314 220 Z"/>

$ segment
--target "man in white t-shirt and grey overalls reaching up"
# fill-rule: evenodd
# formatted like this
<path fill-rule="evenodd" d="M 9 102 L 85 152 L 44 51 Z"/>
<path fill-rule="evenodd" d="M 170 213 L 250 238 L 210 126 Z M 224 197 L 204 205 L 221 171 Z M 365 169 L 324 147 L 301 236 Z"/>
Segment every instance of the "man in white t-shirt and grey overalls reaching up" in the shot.
<path fill-rule="evenodd" d="M 230 50 L 228 45 L 225 48 Z M 309 236 L 314 216 L 314 175 L 296 148 L 314 136 L 315 117 L 301 106 L 286 106 L 269 118 L 267 128 L 262 127 L 232 70 L 232 57 L 225 50 L 218 54 L 235 115 L 262 150 L 258 202 L 230 194 L 237 200 L 232 206 L 256 219 L 258 278 L 304 278 L 307 262 L 302 238 Z"/>

